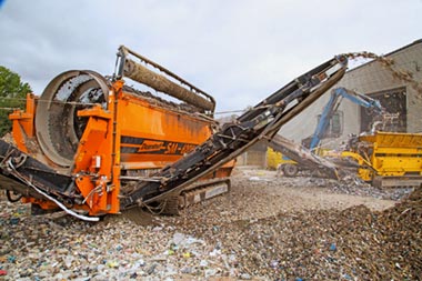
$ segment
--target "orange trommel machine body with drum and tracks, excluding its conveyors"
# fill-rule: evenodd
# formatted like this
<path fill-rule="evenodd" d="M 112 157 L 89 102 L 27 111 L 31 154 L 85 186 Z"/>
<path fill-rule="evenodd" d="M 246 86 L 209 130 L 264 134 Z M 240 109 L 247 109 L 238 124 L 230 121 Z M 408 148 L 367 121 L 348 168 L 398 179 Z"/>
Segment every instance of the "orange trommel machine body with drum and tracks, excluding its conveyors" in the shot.
<path fill-rule="evenodd" d="M 88 210 L 91 215 L 118 213 L 120 195 L 140 180 L 158 180 L 154 172 L 193 150 L 217 127 L 211 96 L 128 48 L 120 48 L 118 62 L 120 69 L 113 78 L 93 71 L 63 72 L 41 97 L 28 96 L 24 112 L 10 116 L 18 149 L 54 170 L 58 178 L 71 175 L 74 185 L 61 192 L 77 189 L 80 193 L 72 207 Z M 182 102 L 138 91 L 128 87 L 123 77 Z M 177 212 L 198 198 L 227 192 L 233 165 L 234 161 L 230 161 L 192 184 L 189 192 L 184 190 L 160 202 L 161 211 Z M 22 190 L 23 200 L 31 202 L 33 209 L 58 208 L 37 191 Z"/>

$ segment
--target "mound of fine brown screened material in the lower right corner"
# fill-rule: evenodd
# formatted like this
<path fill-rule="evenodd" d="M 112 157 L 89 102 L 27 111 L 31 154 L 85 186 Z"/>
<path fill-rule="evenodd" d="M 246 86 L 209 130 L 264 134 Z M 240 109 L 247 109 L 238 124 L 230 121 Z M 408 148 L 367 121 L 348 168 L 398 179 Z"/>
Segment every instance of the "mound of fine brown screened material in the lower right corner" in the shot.
<path fill-rule="evenodd" d="M 201 233 L 199 228 L 195 233 Z M 364 205 L 285 212 L 202 231 L 201 235 L 237 257 L 240 272 L 269 280 L 418 280 L 422 275 L 421 189 L 382 212 Z"/>

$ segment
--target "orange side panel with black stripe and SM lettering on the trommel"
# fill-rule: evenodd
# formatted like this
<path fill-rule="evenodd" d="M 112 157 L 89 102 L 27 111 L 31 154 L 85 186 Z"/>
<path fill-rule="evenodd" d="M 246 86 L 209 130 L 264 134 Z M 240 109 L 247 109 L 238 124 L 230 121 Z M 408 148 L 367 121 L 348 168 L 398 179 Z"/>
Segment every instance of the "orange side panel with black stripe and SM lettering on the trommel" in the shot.
<path fill-rule="evenodd" d="M 118 102 L 121 161 L 125 167 L 161 168 L 211 136 L 211 120 L 152 104 L 123 93 Z M 150 167 L 152 168 L 152 167 Z"/>

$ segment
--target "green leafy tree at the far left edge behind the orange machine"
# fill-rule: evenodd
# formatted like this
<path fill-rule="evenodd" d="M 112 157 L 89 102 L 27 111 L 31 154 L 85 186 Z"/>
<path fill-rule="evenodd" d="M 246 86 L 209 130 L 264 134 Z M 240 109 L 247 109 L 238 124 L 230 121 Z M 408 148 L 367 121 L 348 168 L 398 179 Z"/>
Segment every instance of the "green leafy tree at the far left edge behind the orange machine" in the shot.
<path fill-rule="evenodd" d="M 0 136 L 10 132 L 9 114 L 16 108 L 24 108 L 24 99 L 31 87 L 23 83 L 18 73 L 0 66 Z"/>

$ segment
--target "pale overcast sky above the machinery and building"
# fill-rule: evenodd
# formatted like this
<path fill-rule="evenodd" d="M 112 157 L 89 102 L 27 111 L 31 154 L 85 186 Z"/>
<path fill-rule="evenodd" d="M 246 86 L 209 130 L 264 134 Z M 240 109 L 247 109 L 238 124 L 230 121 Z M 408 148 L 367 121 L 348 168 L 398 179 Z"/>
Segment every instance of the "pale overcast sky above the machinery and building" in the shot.
<path fill-rule="evenodd" d="M 2 4 L 1 4 L 2 2 Z M 111 74 L 124 44 L 244 109 L 351 51 L 422 38 L 422 0 L 0 0 L 0 64 L 36 93 L 70 69 Z"/>

